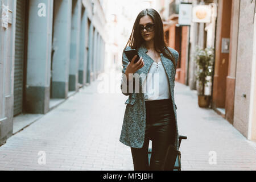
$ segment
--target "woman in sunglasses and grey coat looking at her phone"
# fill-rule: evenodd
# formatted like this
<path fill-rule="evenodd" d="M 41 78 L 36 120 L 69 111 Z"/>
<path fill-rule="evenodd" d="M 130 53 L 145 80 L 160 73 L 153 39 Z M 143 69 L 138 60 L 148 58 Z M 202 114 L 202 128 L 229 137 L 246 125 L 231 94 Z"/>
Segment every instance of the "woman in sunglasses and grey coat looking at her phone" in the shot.
<path fill-rule="evenodd" d="M 129 46 L 127 44 L 129 43 Z M 178 131 L 176 105 L 174 102 L 174 81 L 179 53 L 166 46 L 164 42 L 163 22 L 154 9 L 145 9 L 135 20 L 130 39 L 125 50 L 137 49 L 140 57 L 129 63 L 123 52 L 121 90 L 129 96 L 125 102 L 120 142 L 131 147 L 134 170 L 164 170 L 170 148 L 177 151 Z M 155 88 L 147 88 L 142 93 L 144 84 L 150 85 L 150 79 L 139 78 L 139 85 L 133 76 L 158 73 L 159 92 L 155 97 Z M 135 92 L 139 86 L 139 93 Z M 129 88 L 132 89 L 129 89 Z M 128 92 L 133 90 L 133 92 Z M 148 142 L 152 141 L 152 154 L 148 164 Z"/>

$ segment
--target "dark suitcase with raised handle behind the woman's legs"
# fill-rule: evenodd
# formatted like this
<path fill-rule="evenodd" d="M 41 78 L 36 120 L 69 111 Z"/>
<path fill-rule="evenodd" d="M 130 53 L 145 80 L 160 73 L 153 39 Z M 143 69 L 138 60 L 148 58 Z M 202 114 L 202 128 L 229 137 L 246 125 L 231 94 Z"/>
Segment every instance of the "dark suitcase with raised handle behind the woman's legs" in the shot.
<path fill-rule="evenodd" d="M 179 136 L 179 148 L 181 140 L 187 139 L 186 136 Z M 148 164 L 150 164 L 152 149 L 148 148 Z M 168 149 L 168 154 L 166 158 L 166 163 L 164 164 L 164 171 L 181 171 L 181 153 L 170 147 Z"/>

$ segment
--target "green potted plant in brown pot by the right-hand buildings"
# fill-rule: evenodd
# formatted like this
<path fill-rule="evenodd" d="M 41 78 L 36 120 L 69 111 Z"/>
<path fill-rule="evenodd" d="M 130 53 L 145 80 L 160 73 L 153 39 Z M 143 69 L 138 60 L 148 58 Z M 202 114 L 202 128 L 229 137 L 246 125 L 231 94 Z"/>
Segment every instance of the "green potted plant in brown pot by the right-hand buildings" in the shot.
<path fill-rule="evenodd" d="M 199 107 L 209 107 L 210 104 L 210 96 L 205 96 L 204 90 L 205 84 L 209 82 L 207 76 L 212 76 L 213 60 L 214 48 L 207 47 L 201 49 L 198 46 L 196 47 L 196 80 L 199 81 L 200 86 L 199 92 L 197 93 Z"/>

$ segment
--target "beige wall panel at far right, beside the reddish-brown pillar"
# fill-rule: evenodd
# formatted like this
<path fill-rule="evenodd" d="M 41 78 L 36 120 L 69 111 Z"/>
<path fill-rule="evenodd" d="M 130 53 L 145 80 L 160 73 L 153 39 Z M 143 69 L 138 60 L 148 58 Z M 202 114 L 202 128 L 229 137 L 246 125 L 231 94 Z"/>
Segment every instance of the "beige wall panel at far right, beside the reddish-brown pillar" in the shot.
<path fill-rule="evenodd" d="M 253 60 L 254 3 L 241 1 L 238 30 L 236 89 L 234 98 L 234 127 L 249 138 L 251 96 L 251 66 Z M 243 97 L 243 94 L 246 97 Z"/>

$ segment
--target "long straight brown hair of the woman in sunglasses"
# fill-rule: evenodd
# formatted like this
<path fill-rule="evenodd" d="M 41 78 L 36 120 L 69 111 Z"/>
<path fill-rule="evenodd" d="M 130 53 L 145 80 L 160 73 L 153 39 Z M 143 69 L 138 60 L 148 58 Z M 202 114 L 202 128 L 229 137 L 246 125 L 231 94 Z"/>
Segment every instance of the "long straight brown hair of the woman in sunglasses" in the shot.
<path fill-rule="evenodd" d="M 164 42 L 163 21 L 159 13 L 154 9 L 144 9 L 141 11 L 141 13 L 138 14 L 134 22 L 133 30 L 131 31 L 130 38 L 125 48 L 129 44 L 131 48 L 138 49 L 145 42 L 145 40 L 142 38 L 141 32 L 139 31 L 139 20 L 141 20 L 141 18 L 146 15 L 150 16 L 155 24 L 154 48 L 156 52 L 163 53 L 165 57 L 170 59 L 174 64 L 174 67 L 176 70 L 174 55 L 168 49 L 166 42 Z"/>

